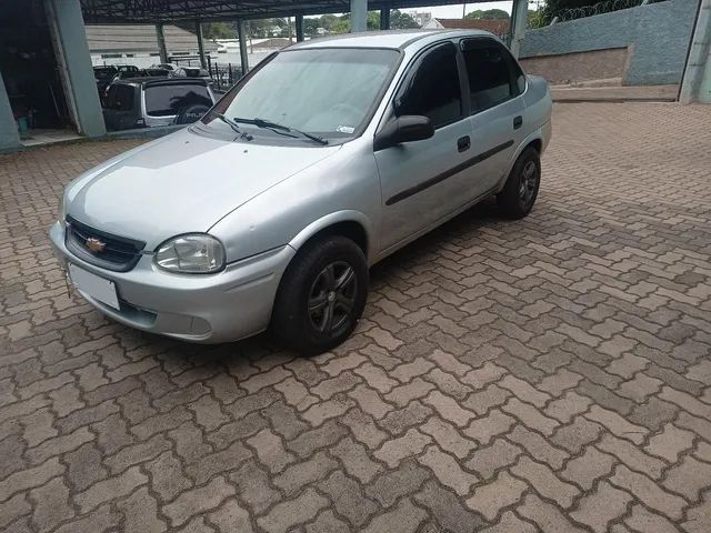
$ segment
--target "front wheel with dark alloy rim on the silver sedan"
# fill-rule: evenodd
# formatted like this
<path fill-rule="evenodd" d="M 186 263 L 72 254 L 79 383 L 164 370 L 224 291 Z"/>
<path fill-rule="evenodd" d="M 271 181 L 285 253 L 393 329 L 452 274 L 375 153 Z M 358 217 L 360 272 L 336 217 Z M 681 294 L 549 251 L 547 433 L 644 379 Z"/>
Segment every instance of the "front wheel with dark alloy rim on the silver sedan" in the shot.
<path fill-rule="evenodd" d="M 333 235 L 307 244 L 279 284 L 272 335 L 307 355 L 338 346 L 363 312 L 368 278 L 365 257 L 350 239 Z"/>

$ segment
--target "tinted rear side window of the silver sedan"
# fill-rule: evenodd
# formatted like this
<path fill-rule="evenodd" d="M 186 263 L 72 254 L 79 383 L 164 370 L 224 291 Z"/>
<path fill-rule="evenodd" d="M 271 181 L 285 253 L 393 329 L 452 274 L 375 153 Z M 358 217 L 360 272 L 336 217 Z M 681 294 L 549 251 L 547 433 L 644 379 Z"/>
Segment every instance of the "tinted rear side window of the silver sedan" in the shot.
<path fill-rule="evenodd" d="M 491 39 L 471 39 L 462 42 L 462 49 L 472 113 L 499 105 L 523 92 L 523 72 L 503 44 Z"/>

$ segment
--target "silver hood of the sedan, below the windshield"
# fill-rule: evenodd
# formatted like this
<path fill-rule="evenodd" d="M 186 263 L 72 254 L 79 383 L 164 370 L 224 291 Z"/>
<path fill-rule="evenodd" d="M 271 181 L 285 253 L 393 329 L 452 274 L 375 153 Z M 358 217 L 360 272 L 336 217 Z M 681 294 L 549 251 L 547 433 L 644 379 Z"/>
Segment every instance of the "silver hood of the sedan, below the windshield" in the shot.
<path fill-rule="evenodd" d="M 151 250 L 222 217 L 340 147 L 274 147 L 181 130 L 98 167 L 67 191 L 67 212 Z"/>

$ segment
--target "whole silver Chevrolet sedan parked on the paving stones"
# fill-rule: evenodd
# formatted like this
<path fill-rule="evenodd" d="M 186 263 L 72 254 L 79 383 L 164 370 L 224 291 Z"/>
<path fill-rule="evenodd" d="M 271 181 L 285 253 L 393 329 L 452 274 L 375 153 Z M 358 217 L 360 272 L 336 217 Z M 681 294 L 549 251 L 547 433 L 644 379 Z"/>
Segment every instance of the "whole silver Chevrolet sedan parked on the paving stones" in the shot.
<path fill-rule="evenodd" d="M 370 265 L 491 195 L 525 217 L 550 137 L 545 81 L 490 33 L 313 40 L 77 178 L 50 237 L 119 322 L 317 353 L 356 328 Z"/>

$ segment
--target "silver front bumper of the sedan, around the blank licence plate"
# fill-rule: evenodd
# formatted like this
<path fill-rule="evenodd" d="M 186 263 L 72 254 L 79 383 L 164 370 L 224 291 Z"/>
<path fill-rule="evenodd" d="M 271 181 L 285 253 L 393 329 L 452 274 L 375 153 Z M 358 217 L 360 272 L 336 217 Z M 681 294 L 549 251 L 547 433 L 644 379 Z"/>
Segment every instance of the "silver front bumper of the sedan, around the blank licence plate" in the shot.
<path fill-rule="evenodd" d="M 284 245 L 230 263 L 217 274 L 172 274 L 141 257 L 129 272 L 99 269 L 64 245 L 64 228 L 50 229 L 54 253 L 116 283 L 120 310 L 77 291 L 106 315 L 139 330 L 192 342 L 219 343 L 251 336 L 269 325 L 281 275 L 296 251 Z"/>

